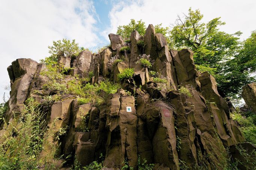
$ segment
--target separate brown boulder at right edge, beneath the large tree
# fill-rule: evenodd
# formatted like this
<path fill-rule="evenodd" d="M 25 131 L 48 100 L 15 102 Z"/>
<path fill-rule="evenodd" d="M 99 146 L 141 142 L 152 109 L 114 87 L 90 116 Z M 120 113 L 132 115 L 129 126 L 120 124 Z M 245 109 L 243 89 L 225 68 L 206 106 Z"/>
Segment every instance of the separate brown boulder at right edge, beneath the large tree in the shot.
<path fill-rule="evenodd" d="M 256 112 L 256 83 L 247 84 L 242 90 L 242 97 L 245 103 Z"/>

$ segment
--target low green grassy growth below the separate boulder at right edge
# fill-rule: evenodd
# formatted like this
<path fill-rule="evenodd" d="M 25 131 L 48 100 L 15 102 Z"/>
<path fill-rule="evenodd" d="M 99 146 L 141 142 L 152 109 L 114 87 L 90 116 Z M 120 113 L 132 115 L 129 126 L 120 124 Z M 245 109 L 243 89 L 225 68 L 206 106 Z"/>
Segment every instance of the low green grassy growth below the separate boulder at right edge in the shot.
<path fill-rule="evenodd" d="M 238 108 L 236 110 L 238 111 L 232 112 L 230 116 L 238 122 L 246 141 L 256 145 L 256 113 L 245 116 L 245 113 L 240 112 Z"/>

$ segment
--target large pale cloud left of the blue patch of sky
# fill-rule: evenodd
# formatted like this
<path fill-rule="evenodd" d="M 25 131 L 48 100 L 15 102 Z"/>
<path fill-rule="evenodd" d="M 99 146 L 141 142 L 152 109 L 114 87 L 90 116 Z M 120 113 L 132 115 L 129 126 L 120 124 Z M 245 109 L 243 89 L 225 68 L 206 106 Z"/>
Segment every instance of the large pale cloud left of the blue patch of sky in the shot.
<path fill-rule="evenodd" d="M 53 40 L 75 39 L 86 48 L 99 42 L 98 15 L 90 0 L 0 0 L 0 4 L 0 89 L 9 84 L 6 68 L 12 61 L 39 61 L 48 56 Z"/>

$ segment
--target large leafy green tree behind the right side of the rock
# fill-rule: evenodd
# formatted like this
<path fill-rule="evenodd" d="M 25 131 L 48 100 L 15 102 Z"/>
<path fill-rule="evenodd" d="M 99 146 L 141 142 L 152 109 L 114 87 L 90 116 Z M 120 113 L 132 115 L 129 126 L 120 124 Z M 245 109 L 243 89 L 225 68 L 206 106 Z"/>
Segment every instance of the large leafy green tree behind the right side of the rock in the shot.
<path fill-rule="evenodd" d="M 171 46 L 178 50 L 182 48 L 193 50 L 197 70 L 208 71 L 215 76 L 218 91 L 223 97 L 236 98 L 240 95 L 242 86 L 254 80 L 250 77 L 248 69 L 244 67 L 246 65 L 248 68 L 253 68 L 253 64 L 249 64 L 252 55 L 241 57 L 240 53 L 245 56 L 253 52 L 255 54 L 255 51 L 251 48 L 244 50 L 245 46 L 239 41 L 239 36 L 242 34 L 240 31 L 234 34 L 219 31 L 219 26 L 225 24 L 220 21 L 220 17 L 207 23 L 203 23 L 202 18 L 200 10 L 193 11 L 191 8 L 188 10 L 188 15 L 178 16 L 175 24 L 171 25 Z M 247 42 L 251 41 L 252 39 Z M 248 43 L 247 46 L 251 47 Z M 248 63 L 245 62 L 247 64 L 244 63 L 242 66 L 238 58 L 243 58 Z"/>

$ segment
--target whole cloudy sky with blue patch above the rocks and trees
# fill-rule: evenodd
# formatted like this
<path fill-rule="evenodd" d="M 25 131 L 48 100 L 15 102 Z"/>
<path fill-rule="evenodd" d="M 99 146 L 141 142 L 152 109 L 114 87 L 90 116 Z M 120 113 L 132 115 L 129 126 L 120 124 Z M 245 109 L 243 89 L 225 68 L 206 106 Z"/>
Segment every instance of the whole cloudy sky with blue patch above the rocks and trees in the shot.
<path fill-rule="evenodd" d="M 226 25 L 220 30 L 241 31 L 241 40 L 256 29 L 256 0 L 0 0 L 0 102 L 4 92 L 9 94 L 6 68 L 11 62 L 39 62 L 49 56 L 53 40 L 75 39 L 95 51 L 110 43 L 109 33 L 132 18 L 167 27 L 190 7 L 200 10 L 203 22 L 221 17 Z"/>

